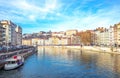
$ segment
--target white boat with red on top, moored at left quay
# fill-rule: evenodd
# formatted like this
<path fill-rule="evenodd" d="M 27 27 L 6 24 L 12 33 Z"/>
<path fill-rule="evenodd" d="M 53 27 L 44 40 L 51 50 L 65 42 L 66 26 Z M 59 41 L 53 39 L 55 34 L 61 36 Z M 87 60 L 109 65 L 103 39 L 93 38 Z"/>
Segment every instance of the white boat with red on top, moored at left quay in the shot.
<path fill-rule="evenodd" d="M 6 63 L 4 66 L 4 70 L 12 70 L 24 64 L 23 56 L 18 56 L 18 55 L 13 56 L 12 58 L 9 58 L 5 61 Z"/>

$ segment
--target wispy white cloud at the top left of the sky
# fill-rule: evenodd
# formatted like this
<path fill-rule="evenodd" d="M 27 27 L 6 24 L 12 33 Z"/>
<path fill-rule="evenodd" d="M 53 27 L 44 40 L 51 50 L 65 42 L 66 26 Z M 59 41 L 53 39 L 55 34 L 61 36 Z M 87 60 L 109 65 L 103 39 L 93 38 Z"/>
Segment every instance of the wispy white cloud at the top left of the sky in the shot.
<path fill-rule="evenodd" d="M 6 6 L 4 6 L 3 4 L 6 4 Z M 42 3 L 41 3 L 42 4 Z M 34 5 L 30 2 L 27 2 L 26 0 L 11 0 L 10 2 L 7 1 L 1 1 L 1 7 L 7 9 L 8 7 L 10 8 L 10 10 L 8 9 L 9 13 L 13 13 L 11 12 L 11 10 L 14 12 L 20 12 L 17 14 L 22 14 L 23 16 L 30 16 L 30 15 L 36 15 L 38 17 L 41 17 L 40 19 L 45 19 L 48 13 L 53 13 L 52 10 L 55 10 L 57 4 L 56 4 L 56 0 L 46 0 L 44 6 L 37 6 Z M 5 10 L 4 10 L 5 11 Z M 22 13 L 21 13 L 22 12 Z M 9 14 L 8 14 L 9 15 Z"/>

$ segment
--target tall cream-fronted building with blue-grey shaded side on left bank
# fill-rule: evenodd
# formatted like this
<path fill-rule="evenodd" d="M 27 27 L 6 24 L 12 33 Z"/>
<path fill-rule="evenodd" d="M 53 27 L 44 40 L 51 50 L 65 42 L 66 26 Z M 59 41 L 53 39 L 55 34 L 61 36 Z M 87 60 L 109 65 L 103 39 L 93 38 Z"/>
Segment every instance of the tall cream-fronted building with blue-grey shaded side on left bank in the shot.
<path fill-rule="evenodd" d="M 11 21 L 8 21 L 8 20 L 2 20 L 0 21 L 1 25 L 3 28 L 5 28 L 5 44 L 6 45 L 17 45 L 17 44 L 20 44 L 22 40 L 22 36 L 20 36 L 18 38 L 18 36 L 20 34 L 22 34 L 22 29 L 20 29 L 20 33 L 19 35 L 17 35 L 17 33 L 19 32 L 16 32 L 16 27 L 17 25 L 14 24 L 13 22 Z M 17 43 L 18 40 L 20 40 L 20 43 Z"/>

